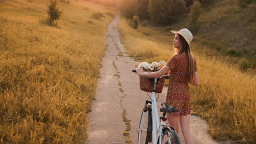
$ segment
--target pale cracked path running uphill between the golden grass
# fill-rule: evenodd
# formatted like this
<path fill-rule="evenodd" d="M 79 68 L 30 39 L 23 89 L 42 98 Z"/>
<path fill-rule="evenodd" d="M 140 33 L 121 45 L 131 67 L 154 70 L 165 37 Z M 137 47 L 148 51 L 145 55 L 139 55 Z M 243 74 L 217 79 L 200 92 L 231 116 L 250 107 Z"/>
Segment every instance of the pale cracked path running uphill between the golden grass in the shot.
<path fill-rule="evenodd" d="M 139 89 L 138 75 L 131 70 L 138 64 L 126 57 L 118 33 L 120 16 L 108 26 L 108 50 L 103 57 L 101 75 L 98 79 L 97 93 L 89 113 L 89 138 L 85 143 L 125 143 L 126 128 L 122 113 L 126 110 L 126 118 L 131 120 L 130 138 L 137 143 L 137 129 L 147 93 Z M 124 56 L 121 56 L 124 55 Z M 165 101 L 167 87 L 159 96 L 159 104 Z M 207 134 L 207 124 L 201 118 L 191 116 L 191 133 L 196 144 L 217 144 Z M 181 142 L 184 142 L 180 133 Z M 223 143 L 223 142 L 222 142 Z"/>

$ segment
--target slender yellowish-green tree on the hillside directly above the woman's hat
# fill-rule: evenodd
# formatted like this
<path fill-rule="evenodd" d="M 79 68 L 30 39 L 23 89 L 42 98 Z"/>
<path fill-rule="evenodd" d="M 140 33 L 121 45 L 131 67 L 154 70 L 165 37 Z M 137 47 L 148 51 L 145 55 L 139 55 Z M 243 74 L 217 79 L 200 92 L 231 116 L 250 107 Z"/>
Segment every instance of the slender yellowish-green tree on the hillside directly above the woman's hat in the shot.
<path fill-rule="evenodd" d="M 191 22 L 193 24 L 195 24 L 201 14 L 202 14 L 201 3 L 199 1 L 195 1 L 193 3 L 193 5 L 191 6 L 190 13 L 189 13 L 189 16 L 191 18 Z"/>

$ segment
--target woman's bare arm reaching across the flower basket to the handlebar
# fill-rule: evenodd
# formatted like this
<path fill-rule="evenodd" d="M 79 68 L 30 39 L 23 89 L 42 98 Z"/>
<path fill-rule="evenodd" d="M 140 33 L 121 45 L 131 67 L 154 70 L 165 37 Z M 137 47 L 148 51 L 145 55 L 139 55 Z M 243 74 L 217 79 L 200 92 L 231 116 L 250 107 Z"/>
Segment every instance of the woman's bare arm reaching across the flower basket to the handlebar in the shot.
<path fill-rule="evenodd" d="M 162 75 L 167 74 L 167 72 L 170 70 L 170 67 L 165 65 L 163 68 L 161 68 L 159 71 L 155 71 L 152 73 L 147 73 L 146 71 L 143 71 L 142 68 L 136 68 L 137 74 L 144 77 L 152 77 L 152 78 L 159 78 Z"/>

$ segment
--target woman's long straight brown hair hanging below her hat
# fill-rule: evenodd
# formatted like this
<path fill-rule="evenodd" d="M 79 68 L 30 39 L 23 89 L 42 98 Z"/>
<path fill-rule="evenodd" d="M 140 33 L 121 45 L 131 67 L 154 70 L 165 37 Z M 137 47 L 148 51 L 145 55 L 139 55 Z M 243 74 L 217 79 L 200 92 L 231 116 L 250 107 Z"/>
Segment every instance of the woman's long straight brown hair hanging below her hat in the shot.
<path fill-rule="evenodd" d="M 187 53 L 188 56 L 188 62 L 189 62 L 189 67 L 188 67 L 188 80 L 193 80 L 194 79 L 194 56 L 192 55 L 191 51 L 190 51 L 190 46 L 188 44 L 188 42 L 182 37 L 181 34 L 179 34 L 179 42 L 180 42 L 180 46 L 179 49 L 176 51 L 176 54 L 185 52 Z"/>

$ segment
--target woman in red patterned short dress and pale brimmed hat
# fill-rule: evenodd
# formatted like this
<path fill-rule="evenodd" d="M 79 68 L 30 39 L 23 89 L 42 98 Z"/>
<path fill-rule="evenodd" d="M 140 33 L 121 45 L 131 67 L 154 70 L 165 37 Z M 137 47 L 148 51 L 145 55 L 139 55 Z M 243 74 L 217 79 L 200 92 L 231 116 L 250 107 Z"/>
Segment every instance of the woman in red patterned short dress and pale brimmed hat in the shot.
<path fill-rule="evenodd" d="M 187 28 L 183 28 L 178 32 L 171 32 L 175 34 L 173 39 L 175 54 L 170 62 L 156 72 L 147 73 L 142 68 L 137 68 L 136 71 L 138 75 L 154 78 L 160 77 L 171 70 L 166 103 L 178 107 L 178 112 L 168 113 L 168 122 L 177 133 L 179 131 L 178 122 L 180 122 L 185 142 L 190 144 L 194 142 L 189 130 L 191 105 L 188 82 L 195 86 L 199 85 L 196 61 L 191 54 L 189 45 L 193 35 Z"/>

